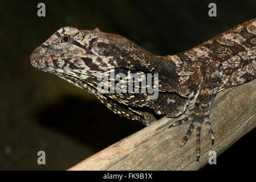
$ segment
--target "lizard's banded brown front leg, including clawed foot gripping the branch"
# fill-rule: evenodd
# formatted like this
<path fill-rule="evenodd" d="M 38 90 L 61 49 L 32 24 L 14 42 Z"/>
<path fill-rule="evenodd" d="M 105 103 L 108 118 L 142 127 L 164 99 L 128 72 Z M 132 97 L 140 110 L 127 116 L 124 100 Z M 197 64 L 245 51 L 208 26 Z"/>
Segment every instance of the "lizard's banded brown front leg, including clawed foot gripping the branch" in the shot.
<path fill-rule="evenodd" d="M 202 84 L 198 85 L 198 89 L 200 90 L 198 96 L 196 98 L 195 105 L 192 110 L 190 110 L 190 114 L 188 117 L 184 119 L 180 119 L 174 122 L 170 127 L 183 125 L 186 122 L 191 122 L 188 131 L 185 134 L 185 137 L 182 139 L 181 147 L 183 147 L 188 141 L 190 135 L 194 127 L 197 129 L 196 134 L 196 158 L 197 161 L 200 158 L 200 144 L 201 144 L 201 126 L 202 123 L 206 124 L 208 128 L 209 137 L 212 140 L 212 144 L 214 142 L 213 130 L 210 126 L 209 114 L 210 107 L 216 97 L 218 92 L 218 88 L 220 86 L 221 78 L 223 75 L 223 67 L 218 61 L 212 61 L 205 65 L 205 69 L 202 71 L 200 79 L 202 79 Z M 170 128 L 169 127 L 169 128 Z"/>

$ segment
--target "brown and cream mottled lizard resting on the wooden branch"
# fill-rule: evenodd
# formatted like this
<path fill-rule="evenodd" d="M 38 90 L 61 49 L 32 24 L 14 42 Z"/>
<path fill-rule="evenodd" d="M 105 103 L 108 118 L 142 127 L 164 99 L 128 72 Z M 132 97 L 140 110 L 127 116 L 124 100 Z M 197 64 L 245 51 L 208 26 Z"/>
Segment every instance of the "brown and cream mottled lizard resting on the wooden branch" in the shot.
<path fill-rule="evenodd" d="M 198 161 L 202 124 L 214 143 L 209 115 L 216 94 L 256 78 L 256 19 L 167 56 L 155 55 L 121 35 L 99 28 L 62 27 L 31 53 L 30 63 L 94 94 L 114 113 L 145 125 L 164 115 L 176 118 L 187 114 L 169 128 L 190 123 L 182 147 L 196 127 Z M 157 73 L 158 97 L 151 100 L 149 93 L 98 92 L 99 75 L 109 76 L 111 71 L 126 76 Z M 188 109 L 190 104 L 194 104 L 192 109 Z"/>

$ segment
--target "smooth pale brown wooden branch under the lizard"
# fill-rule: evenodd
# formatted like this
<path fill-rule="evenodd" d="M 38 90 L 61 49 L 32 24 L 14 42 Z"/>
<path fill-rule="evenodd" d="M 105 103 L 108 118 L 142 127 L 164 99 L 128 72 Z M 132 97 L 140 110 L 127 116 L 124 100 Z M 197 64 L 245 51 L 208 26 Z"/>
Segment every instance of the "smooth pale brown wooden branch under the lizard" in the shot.
<path fill-rule="evenodd" d="M 189 123 L 169 125 L 162 118 L 127 138 L 97 152 L 69 170 L 197 170 L 208 163 L 208 152 L 220 155 L 256 126 L 256 80 L 217 94 L 210 114 L 215 136 L 212 146 L 202 127 L 201 158 L 196 161 L 196 134 L 180 148 Z M 184 116 L 182 116 L 184 117 Z"/>

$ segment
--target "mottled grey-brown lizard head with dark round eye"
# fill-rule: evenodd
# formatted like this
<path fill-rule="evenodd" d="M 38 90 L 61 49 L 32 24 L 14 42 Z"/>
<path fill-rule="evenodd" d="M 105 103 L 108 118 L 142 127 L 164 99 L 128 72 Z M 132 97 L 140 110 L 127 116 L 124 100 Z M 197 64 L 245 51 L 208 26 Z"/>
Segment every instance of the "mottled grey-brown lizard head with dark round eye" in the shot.
<path fill-rule="evenodd" d="M 116 67 L 127 67 L 132 59 L 153 55 L 117 34 L 59 28 L 30 55 L 31 64 L 55 75 L 96 76 Z M 130 65 L 133 67 L 134 65 Z"/>

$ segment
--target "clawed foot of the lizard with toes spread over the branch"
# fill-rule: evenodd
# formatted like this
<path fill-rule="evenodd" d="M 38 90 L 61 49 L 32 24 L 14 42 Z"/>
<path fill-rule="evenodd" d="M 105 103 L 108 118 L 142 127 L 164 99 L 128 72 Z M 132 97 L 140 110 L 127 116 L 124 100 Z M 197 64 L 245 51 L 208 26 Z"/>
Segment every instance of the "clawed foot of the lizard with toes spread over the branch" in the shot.
<path fill-rule="evenodd" d="M 212 145 L 214 144 L 214 135 L 213 135 L 212 127 L 210 125 L 210 121 L 209 121 L 209 114 L 202 114 L 201 111 L 192 109 L 191 114 L 188 117 L 174 122 L 172 125 L 169 126 L 169 128 L 170 127 L 175 127 L 175 126 L 180 126 L 180 125 L 183 125 L 187 122 L 191 122 L 191 123 L 190 123 L 188 131 L 186 131 L 186 134 L 185 134 L 184 138 L 181 141 L 181 146 L 180 147 L 185 146 L 186 142 L 188 142 L 188 139 L 189 139 L 190 135 L 193 132 L 194 127 L 196 126 L 196 128 L 197 128 L 197 134 L 196 134 L 196 144 L 197 144 L 196 145 L 196 153 L 197 153 L 197 155 L 196 155 L 196 158 L 197 158 L 197 161 L 198 161 L 199 158 L 200 158 L 200 152 L 201 152 L 200 145 L 201 145 L 201 127 L 202 127 L 202 123 L 206 124 L 206 127 L 208 129 L 208 133 L 209 133 L 209 137 L 212 140 Z"/>

